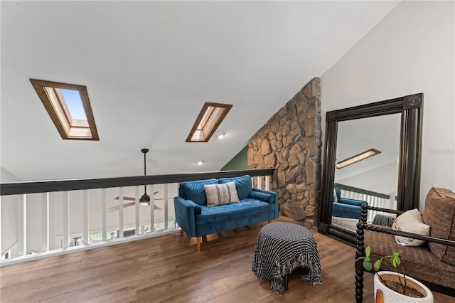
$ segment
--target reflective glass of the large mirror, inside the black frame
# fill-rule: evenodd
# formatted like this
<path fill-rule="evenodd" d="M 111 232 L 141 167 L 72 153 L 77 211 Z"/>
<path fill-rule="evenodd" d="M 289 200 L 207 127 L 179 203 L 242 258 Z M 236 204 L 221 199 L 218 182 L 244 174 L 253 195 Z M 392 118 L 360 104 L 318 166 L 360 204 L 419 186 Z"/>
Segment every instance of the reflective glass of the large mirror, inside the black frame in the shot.
<path fill-rule="evenodd" d="M 401 114 L 338 122 L 331 223 L 355 232 L 363 203 L 397 209 Z M 353 159 L 364 151 L 366 159 Z M 346 161 L 344 160 L 352 160 Z M 377 212 L 368 212 L 371 223 Z M 378 218 L 377 218 L 378 219 Z"/>

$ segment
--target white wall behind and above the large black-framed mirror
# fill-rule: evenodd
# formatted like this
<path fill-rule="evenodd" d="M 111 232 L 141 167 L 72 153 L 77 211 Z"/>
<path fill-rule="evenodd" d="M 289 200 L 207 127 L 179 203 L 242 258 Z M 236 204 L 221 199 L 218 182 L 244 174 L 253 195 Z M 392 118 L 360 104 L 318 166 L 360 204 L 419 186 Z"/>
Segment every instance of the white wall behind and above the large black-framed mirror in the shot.
<path fill-rule="evenodd" d="M 325 112 L 424 93 L 420 209 L 455 191 L 454 1 L 403 1 L 321 77 Z"/>

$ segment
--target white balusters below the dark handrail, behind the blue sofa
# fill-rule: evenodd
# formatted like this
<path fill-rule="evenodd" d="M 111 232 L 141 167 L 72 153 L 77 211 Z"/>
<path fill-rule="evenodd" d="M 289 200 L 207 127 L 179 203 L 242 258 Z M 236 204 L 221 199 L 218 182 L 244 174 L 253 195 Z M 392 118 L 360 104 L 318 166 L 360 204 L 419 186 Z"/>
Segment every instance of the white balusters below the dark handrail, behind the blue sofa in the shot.
<path fill-rule="evenodd" d="M 262 177 L 254 176 L 253 179 L 257 187 L 269 190 L 269 176 L 265 175 L 265 182 Z M 147 192 L 151 193 L 149 211 L 139 203 L 139 185 L 117 188 L 87 186 L 68 191 L 12 195 L 16 196 L 17 223 L 6 226 L 6 229 L 16 234 L 18 249 L 9 259 L 1 260 L 0 266 L 174 232 L 178 226 L 174 220 L 173 197 L 178 196 L 178 183 L 146 186 Z M 154 191 L 161 191 L 162 195 L 157 199 Z M 118 214 L 113 214 L 108 209 L 117 194 Z M 125 196 L 134 196 L 135 203 L 131 208 L 124 207 Z M 0 196 L 0 206 L 4 198 Z M 162 211 L 159 211 L 159 216 L 154 211 L 156 204 Z M 100 238 L 93 239 L 95 235 L 100 235 Z M 6 246 L 2 240 L 0 235 L 0 249 Z"/>

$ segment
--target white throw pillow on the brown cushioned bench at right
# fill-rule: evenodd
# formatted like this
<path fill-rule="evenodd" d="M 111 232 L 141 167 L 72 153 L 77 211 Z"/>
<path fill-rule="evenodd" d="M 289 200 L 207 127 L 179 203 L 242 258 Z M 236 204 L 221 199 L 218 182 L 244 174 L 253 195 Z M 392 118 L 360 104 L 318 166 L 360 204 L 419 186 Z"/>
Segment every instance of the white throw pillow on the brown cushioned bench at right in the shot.
<path fill-rule="evenodd" d="M 422 215 L 417 208 L 405 211 L 395 219 L 392 229 L 405 231 L 407 233 L 417 233 L 419 235 L 429 235 L 429 225 L 424 224 Z M 424 240 L 401 237 L 395 235 L 395 241 L 402 246 L 419 246 L 425 243 Z"/>

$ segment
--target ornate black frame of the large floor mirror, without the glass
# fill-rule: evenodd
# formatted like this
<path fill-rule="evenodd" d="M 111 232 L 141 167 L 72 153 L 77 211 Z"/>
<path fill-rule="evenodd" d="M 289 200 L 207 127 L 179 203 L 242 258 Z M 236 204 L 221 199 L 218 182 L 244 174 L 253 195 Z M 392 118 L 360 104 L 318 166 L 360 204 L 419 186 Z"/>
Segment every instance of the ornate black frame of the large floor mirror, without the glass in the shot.
<path fill-rule="evenodd" d="M 401 113 L 397 209 L 407 211 L 419 208 L 423 99 L 424 94 L 419 93 L 326 113 L 319 233 L 350 245 L 355 244 L 355 233 L 331 225 L 338 122 L 341 121 Z"/>

